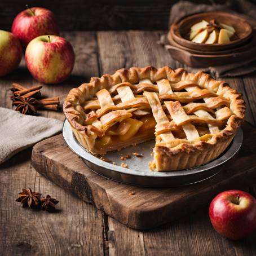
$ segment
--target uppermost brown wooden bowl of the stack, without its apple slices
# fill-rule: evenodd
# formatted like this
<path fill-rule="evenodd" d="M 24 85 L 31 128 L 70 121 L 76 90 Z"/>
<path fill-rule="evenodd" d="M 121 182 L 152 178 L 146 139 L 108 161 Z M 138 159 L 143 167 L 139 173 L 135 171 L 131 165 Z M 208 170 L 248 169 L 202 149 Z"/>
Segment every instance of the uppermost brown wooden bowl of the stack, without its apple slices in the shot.
<path fill-rule="evenodd" d="M 236 30 L 239 39 L 229 43 L 214 43 L 208 45 L 206 43 L 194 43 L 189 41 L 189 31 L 192 25 L 201 20 L 210 21 L 215 19 L 218 23 L 231 25 Z M 228 12 L 202 12 L 191 16 L 183 17 L 176 23 L 171 25 L 170 34 L 176 43 L 181 46 L 191 48 L 198 51 L 223 51 L 237 47 L 247 41 L 251 37 L 252 29 L 250 24 L 239 15 L 229 14 Z"/>

